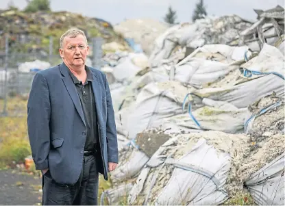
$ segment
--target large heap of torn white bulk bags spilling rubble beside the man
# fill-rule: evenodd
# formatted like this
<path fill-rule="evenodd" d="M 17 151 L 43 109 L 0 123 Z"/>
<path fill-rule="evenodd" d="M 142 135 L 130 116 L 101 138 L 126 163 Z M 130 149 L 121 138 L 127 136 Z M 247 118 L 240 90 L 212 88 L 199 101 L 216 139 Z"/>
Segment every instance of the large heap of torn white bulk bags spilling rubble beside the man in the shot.
<path fill-rule="evenodd" d="M 227 44 L 254 24 L 205 18 L 166 30 L 150 56 L 103 58 L 119 165 L 101 204 L 284 205 L 284 28 L 259 51 Z"/>

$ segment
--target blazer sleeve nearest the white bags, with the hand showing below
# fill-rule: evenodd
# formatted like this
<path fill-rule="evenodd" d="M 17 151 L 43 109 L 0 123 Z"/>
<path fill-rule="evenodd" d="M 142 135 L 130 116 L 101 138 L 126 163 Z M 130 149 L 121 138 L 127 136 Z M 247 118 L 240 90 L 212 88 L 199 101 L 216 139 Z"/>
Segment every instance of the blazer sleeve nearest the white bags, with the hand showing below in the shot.
<path fill-rule="evenodd" d="M 106 89 L 106 101 L 107 101 L 107 123 L 106 123 L 106 135 L 107 135 L 107 150 L 108 150 L 108 162 L 119 162 L 118 142 L 116 136 L 116 123 L 114 118 L 114 108 L 112 104 L 112 97 L 110 93 L 109 83 L 104 75 L 105 89 Z"/>

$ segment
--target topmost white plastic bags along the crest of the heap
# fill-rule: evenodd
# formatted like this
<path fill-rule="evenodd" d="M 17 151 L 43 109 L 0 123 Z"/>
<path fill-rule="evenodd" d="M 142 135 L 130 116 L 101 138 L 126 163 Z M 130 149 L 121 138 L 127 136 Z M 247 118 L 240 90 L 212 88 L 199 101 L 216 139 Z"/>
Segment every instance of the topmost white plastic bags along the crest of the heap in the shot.
<path fill-rule="evenodd" d="M 225 44 L 238 36 L 240 31 L 250 27 L 251 23 L 243 21 L 236 15 L 207 17 L 195 23 L 182 23 L 167 29 L 156 38 L 153 52 L 149 58 L 151 67 L 160 66 L 173 49 L 179 44 L 182 47 L 197 48 L 204 44 Z M 225 29 L 227 28 L 227 29 Z"/>

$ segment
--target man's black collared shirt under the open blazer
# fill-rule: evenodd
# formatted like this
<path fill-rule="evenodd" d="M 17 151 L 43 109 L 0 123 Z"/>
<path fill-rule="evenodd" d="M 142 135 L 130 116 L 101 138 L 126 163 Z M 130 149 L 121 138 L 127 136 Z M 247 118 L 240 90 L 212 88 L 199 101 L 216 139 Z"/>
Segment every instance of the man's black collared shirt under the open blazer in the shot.
<path fill-rule="evenodd" d="M 69 73 L 75 84 L 82 110 L 84 113 L 86 123 L 86 142 L 84 151 L 94 151 L 95 144 L 98 141 L 98 130 L 97 130 L 97 114 L 95 105 L 95 96 L 92 89 L 92 81 L 94 81 L 90 68 L 85 67 L 87 73 L 86 82 L 83 84 L 79 81 L 73 73 L 69 70 Z"/>

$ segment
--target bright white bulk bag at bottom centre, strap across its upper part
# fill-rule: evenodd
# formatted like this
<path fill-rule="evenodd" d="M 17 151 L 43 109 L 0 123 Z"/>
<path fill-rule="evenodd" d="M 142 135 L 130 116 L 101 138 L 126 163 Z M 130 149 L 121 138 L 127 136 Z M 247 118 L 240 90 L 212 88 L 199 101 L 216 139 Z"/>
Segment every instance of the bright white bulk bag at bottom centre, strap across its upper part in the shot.
<path fill-rule="evenodd" d="M 199 140 L 181 159 L 166 159 L 164 163 L 175 169 L 155 204 L 219 205 L 227 199 L 223 185 L 230 170 L 230 155 L 217 153 L 206 140 Z"/>

